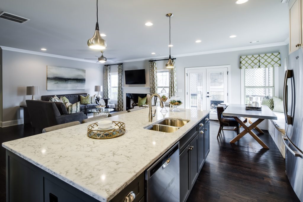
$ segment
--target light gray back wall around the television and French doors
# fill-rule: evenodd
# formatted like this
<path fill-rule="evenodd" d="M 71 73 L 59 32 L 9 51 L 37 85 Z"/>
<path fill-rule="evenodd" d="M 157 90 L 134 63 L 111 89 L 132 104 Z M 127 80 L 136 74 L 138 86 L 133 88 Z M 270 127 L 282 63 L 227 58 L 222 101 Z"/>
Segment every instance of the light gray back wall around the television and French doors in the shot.
<path fill-rule="evenodd" d="M 173 52 L 173 50 L 172 50 Z M 176 59 L 176 73 L 177 73 L 177 87 L 182 92 L 178 95 L 185 100 L 185 68 L 187 67 L 205 67 L 205 66 L 217 66 L 217 65 L 230 65 L 231 66 L 231 103 L 241 103 L 241 70 L 239 69 L 240 56 L 242 55 L 254 55 L 262 53 L 281 53 L 281 68 L 279 68 L 278 76 L 279 83 L 275 84 L 279 88 L 279 94 L 276 95 L 282 98 L 283 93 L 283 80 L 284 80 L 284 59 L 288 56 L 288 46 L 277 46 L 270 48 L 258 48 L 252 50 L 232 51 L 224 53 L 214 53 L 206 55 L 195 55 L 178 57 Z M 165 63 L 167 61 L 157 61 L 158 69 L 165 69 Z M 135 61 L 123 63 L 123 70 L 130 69 L 143 69 L 146 71 L 146 84 L 145 85 L 131 85 L 134 87 L 139 86 L 150 86 L 149 84 L 149 62 L 146 61 Z M 111 72 L 117 71 L 115 66 L 111 66 Z M 124 79 L 124 76 L 123 76 Z M 128 86 L 128 85 L 124 85 Z M 184 106 L 183 106 L 184 107 Z"/>

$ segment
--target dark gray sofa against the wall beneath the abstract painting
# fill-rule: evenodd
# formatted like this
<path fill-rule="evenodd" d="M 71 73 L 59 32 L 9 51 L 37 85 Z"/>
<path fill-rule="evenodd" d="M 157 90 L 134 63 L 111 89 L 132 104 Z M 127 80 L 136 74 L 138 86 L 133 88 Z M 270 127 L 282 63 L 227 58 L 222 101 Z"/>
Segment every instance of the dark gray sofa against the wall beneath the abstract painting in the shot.
<path fill-rule="evenodd" d="M 80 101 L 80 95 L 82 96 L 87 96 L 87 93 L 78 93 L 78 94 L 62 94 L 62 95 L 57 95 L 57 97 L 60 99 L 61 96 L 65 96 L 68 101 L 72 104 L 75 104 L 76 102 L 79 102 Z M 54 97 L 55 95 L 42 95 L 41 96 L 41 100 L 42 101 L 49 101 L 49 99 L 51 97 Z M 80 105 L 80 111 L 84 112 L 86 115 L 88 113 L 89 110 L 91 109 L 95 109 L 95 107 L 97 106 L 98 104 L 96 103 L 93 103 L 93 104 L 81 104 Z M 81 121 L 80 121 L 81 122 Z"/>

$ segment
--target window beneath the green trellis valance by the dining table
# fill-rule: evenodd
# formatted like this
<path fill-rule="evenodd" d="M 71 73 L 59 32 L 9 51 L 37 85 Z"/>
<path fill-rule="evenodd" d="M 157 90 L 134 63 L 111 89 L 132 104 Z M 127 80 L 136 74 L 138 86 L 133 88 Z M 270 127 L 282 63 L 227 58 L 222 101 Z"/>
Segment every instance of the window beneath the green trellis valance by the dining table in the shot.
<path fill-rule="evenodd" d="M 274 68 L 253 68 L 244 70 L 244 102 L 249 103 L 249 97 L 274 96 Z"/>

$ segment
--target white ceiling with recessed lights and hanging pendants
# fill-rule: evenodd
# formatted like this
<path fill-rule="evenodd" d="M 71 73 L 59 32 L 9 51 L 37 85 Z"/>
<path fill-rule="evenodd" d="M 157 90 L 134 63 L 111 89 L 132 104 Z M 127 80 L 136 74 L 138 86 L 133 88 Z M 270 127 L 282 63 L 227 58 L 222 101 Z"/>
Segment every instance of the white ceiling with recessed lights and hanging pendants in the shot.
<path fill-rule="evenodd" d="M 118 61 L 261 45 L 288 38 L 288 7 L 281 0 L 99 0 L 100 32 L 107 36 L 105 57 Z M 29 18 L 19 24 L 0 18 L 0 45 L 74 58 L 94 58 L 87 40 L 96 23 L 96 0 L 4 0 L 5 11 Z M 154 23 L 145 26 L 145 22 Z M 229 38 L 237 35 L 236 38 Z M 196 40 L 201 43 L 195 43 Z M 47 48 L 41 51 L 40 48 Z M 155 52 L 157 55 L 151 55 Z"/>

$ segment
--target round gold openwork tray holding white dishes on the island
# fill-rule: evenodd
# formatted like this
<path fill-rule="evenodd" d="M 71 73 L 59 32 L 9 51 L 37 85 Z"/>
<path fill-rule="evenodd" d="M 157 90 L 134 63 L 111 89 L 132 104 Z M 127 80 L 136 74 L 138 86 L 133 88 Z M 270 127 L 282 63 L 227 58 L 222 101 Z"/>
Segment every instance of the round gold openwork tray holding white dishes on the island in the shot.
<path fill-rule="evenodd" d="M 125 134 L 125 123 L 120 121 L 113 121 L 112 123 L 112 125 L 118 126 L 118 128 L 114 128 L 107 131 L 98 131 L 94 130 L 96 127 L 98 127 L 97 123 L 88 125 L 87 136 L 94 139 L 109 139 L 119 137 Z"/>

